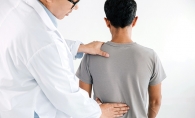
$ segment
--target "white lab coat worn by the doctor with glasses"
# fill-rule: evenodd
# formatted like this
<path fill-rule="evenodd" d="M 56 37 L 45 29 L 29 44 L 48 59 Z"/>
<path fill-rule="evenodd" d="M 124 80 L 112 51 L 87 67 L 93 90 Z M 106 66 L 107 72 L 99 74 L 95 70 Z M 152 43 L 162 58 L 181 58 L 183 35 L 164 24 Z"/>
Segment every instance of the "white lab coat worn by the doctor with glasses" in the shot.
<path fill-rule="evenodd" d="M 98 118 L 78 87 L 79 41 L 64 40 L 37 0 L 0 0 L 0 118 Z"/>

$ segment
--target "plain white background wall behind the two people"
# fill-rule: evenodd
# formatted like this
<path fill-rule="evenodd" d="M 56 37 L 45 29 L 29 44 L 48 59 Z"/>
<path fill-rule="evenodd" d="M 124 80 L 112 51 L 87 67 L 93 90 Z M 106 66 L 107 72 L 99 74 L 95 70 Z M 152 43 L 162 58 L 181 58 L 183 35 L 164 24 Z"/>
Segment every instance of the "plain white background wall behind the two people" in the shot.
<path fill-rule="evenodd" d="M 133 41 L 154 49 L 167 78 L 157 118 L 195 118 L 195 0 L 136 0 Z M 59 21 L 65 38 L 89 43 L 111 39 L 103 18 L 105 0 L 81 0 Z M 75 71 L 81 60 L 75 61 Z"/>

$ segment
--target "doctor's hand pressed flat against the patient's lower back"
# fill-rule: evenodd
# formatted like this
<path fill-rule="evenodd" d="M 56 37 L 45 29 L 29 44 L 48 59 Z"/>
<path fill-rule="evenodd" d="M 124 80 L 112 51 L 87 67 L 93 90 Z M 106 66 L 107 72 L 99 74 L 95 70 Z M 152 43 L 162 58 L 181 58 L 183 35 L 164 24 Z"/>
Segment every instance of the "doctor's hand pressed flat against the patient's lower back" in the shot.
<path fill-rule="evenodd" d="M 100 118 L 116 118 L 121 117 L 128 112 L 129 107 L 122 103 L 101 103 L 100 100 L 96 99 L 102 110 Z"/>

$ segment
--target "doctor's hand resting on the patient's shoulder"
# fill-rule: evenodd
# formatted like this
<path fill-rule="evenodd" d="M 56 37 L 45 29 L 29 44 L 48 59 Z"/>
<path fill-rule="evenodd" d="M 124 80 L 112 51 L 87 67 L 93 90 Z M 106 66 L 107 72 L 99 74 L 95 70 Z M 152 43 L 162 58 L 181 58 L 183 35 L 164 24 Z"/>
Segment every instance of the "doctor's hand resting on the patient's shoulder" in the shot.
<path fill-rule="evenodd" d="M 109 54 L 101 50 L 101 46 L 103 45 L 103 42 L 99 41 L 93 41 L 88 44 L 81 44 L 78 52 L 84 52 L 87 54 L 92 54 L 92 55 L 100 55 L 103 57 L 109 57 Z"/>

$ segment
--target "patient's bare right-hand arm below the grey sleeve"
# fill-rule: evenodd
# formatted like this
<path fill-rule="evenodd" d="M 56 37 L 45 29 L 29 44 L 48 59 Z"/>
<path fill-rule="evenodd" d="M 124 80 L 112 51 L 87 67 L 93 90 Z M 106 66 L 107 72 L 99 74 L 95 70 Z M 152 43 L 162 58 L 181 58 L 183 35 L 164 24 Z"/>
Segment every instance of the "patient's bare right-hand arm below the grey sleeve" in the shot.
<path fill-rule="evenodd" d="M 149 86 L 148 118 L 156 118 L 161 105 L 161 84 Z"/>

